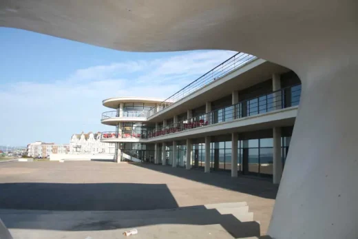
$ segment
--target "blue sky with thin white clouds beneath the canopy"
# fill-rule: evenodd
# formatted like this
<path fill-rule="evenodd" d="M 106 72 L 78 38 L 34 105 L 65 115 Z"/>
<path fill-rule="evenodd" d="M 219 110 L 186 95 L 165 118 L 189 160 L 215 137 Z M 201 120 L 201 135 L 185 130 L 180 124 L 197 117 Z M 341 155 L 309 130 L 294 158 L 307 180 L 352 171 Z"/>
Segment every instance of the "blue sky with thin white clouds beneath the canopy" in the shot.
<path fill-rule="evenodd" d="M 120 52 L 0 28 L 0 145 L 69 143 L 75 133 L 109 131 L 102 100 L 167 98 L 235 52 Z"/>

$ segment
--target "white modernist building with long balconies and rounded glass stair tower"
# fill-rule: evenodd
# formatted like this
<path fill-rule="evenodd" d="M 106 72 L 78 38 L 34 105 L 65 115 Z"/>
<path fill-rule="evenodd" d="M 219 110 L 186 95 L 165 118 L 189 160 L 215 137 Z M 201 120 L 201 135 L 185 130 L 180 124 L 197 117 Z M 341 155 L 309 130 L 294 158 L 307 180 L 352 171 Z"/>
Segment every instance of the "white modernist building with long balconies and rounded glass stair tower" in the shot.
<path fill-rule="evenodd" d="M 165 101 L 109 98 L 116 160 L 255 175 L 280 183 L 301 94 L 286 67 L 238 53 Z"/>

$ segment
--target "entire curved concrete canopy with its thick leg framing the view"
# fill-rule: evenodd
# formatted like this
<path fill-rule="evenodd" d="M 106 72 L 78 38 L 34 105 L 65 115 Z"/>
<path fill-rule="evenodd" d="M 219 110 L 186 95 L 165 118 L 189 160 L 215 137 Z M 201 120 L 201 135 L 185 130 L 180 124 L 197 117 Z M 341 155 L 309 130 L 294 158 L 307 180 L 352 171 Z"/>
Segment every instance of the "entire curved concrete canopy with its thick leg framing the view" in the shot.
<path fill-rule="evenodd" d="M 302 81 L 268 233 L 358 235 L 356 0 L 0 1 L 0 25 L 131 51 L 238 50 Z"/>

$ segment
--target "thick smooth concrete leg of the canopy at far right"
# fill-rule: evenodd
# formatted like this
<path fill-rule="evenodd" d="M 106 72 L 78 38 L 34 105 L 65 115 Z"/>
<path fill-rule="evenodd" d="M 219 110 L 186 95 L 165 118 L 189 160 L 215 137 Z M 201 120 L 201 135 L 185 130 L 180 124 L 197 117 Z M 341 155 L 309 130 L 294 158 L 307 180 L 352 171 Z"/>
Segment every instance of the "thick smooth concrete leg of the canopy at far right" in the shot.
<path fill-rule="evenodd" d="M 299 74 L 302 95 L 268 229 L 272 238 L 357 238 L 358 56 L 332 59 L 322 59 L 326 68 L 312 65 Z"/>

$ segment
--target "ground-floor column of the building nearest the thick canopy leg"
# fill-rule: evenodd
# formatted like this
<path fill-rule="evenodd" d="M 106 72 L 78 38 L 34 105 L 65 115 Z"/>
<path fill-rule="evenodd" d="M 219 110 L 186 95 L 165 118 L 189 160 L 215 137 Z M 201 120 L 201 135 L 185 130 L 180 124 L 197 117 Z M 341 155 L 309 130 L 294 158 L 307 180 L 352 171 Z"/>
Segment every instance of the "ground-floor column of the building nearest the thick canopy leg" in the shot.
<path fill-rule="evenodd" d="M 282 175 L 281 128 L 273 128 L 273 183 L 279 184 Z"/>

